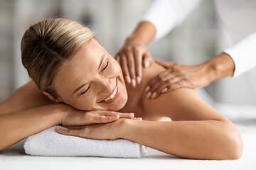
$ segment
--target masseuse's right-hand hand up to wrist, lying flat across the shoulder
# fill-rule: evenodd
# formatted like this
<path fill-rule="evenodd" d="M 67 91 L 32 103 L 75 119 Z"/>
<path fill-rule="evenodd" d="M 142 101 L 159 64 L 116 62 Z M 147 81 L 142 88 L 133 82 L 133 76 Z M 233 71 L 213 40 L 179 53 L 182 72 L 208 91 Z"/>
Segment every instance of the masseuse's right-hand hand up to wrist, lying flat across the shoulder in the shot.
<path fill-rule="evenodd" d="M 211 82 L 211 72 L 206 63 L 198 65 L 184 65 L 173 62 L 156 63 L 166 68 L 166 71 L 161 72 L 158 76 L 149 81 L 145 91 L 146 98 L 156 98 L 162 93 L 168 93 L 187 87 L 195 89 L 198 87 L 207 86 Z"/>

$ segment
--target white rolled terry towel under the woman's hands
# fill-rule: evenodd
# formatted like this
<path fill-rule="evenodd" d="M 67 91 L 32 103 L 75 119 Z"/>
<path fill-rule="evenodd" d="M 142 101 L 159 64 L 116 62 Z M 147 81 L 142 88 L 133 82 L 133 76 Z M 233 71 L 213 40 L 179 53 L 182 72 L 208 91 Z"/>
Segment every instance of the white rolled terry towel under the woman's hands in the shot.
<path fill-rule="evenodd" d="M 51 157 L 119 157 L 140 158 L 148 154 L 148 147 L 129 140 L 90 140 L 61 135 L 55 126 L 28 137 L 26 154 Z"/>

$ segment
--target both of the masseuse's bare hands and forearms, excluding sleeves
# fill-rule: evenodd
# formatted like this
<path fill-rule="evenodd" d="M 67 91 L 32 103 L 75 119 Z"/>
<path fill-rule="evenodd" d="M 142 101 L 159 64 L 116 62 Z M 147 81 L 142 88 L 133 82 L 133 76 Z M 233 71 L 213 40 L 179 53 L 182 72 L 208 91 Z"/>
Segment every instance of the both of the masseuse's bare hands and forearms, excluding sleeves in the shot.
<path fill-rule="evenodd" d="M 127 37 L 124 46 L 117 52 L 116 59 L 121 65 L 125 80 L 133 87 L 139 84 L 142 79 L 142 66 L 147 67 L 152 61 L 146 45 L 151 42 L 155 34 L 154 25 L 143 21 Z M 148 92 L 146 98 L 157 98 L 161 94 L 169 93 L 181 87 L 195 89 L 207 86 L 217 79 L 231 77 L 235 72 L 235 63 L 226 53 L 221 53 L 198 65 L 156 62 L 165 67 L 166 70 L 149 81 L 145 89 Z"/>

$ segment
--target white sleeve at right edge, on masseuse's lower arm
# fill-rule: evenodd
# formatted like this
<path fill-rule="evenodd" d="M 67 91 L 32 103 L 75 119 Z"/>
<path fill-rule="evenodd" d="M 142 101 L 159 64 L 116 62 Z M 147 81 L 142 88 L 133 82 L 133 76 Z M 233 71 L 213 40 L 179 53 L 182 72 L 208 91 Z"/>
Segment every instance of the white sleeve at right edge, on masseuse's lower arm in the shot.
<path fill-rule="evenodd" d="M 256 32 L 241 40 L 233 47 L 224 50 L 235 62 L 235 73 L 233 77 L 249 71 L 256 67 Z"/>

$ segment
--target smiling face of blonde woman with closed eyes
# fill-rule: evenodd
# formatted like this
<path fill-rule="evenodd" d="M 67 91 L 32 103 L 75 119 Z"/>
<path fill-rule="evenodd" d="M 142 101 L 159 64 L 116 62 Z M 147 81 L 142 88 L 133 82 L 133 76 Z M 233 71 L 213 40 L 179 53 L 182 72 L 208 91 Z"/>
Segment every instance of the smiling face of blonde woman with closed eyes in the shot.
<path fill-rule="evenodd" d="M 64 62 L 53 86 L 60 101 L 84 111 L 117 111 L 127 102 L 118 62 L 95 39 Z"/>

